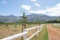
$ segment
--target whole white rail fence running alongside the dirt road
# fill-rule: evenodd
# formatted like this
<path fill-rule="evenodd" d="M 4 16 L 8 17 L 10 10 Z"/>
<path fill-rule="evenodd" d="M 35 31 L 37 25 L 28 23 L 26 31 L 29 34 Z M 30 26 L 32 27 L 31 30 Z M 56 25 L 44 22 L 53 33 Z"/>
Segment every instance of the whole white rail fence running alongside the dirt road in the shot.
<path fill-rule="evenodd" d="M 44 24 L 42 24 L 40 26 L 24 29 L 24 32 L 22 32 L 22 33 L 3 38 L 1 40 L 15 40 L 16 38 L 21 37 L 21 36 L 23 36 L 24 40 L 30 40 L 33 36 L 38 35 L 38 33 L 42 30 L 43 27 L 44 27 Z M 37 32 L 35 32 L 33 35 L 31 35 L 30 37 L 27 38 L 27 36 L 26 36 L 27 33 L 29 32 L 29 30 L 32 30 L 32 29 L 37 29 Z"/>

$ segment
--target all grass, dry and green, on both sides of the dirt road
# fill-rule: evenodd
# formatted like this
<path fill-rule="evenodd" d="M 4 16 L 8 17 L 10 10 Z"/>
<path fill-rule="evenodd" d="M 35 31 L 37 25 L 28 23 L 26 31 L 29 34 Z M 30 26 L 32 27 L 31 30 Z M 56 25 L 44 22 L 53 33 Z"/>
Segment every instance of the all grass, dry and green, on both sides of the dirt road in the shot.
<path fill-rule="evenodd" d="M 48 27 L 49 24 L 46 24 L 44 26 L 44 28 L 41 30 L 41 32 L 39 33 L 38 37 L 34 36 L 33 38 L 31 38 L 31 40 L 49 40 L 49 29 L 47 29 L 47 25 Z M 60 29 L 60 24 L 51 24 L 53 28 L 59 28 Z M 28 24 L 26 27 L 27 28 L 31 28 L 31 27 L 35 27 L 37 26 L 37 24 Z M 55 29 L 54 29 L 55 30 Z M 54 31 L 53 30 L 53 31 Z M 8 37 L 8 36 L 12 36 L 14 34 L 18 34 L 22 32 L 22 25 L 0 25 L 0 39 Z M 34 32 L 36 32 L 36 29 L 34 30 L 30 30 L 27 37 L 31 36 Z M 17 38 L 16 40 L 21 40 L 21 38 Z"/>

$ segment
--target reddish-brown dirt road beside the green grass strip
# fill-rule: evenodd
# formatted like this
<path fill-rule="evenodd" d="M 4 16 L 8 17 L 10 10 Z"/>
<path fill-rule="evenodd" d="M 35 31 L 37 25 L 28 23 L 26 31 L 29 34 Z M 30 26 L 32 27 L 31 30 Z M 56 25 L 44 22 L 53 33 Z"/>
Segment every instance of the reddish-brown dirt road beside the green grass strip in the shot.
<path fill-rule="evenodd" d="M 47 25 L 49 40 L 60 40 L 60 29 L 53 27 L 53 25 Z"/>

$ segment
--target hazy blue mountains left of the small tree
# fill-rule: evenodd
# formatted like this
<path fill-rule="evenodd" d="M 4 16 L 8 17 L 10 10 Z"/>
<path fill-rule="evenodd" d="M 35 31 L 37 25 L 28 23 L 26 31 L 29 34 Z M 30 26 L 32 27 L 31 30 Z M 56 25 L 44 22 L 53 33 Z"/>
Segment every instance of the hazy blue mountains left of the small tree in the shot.
<path fill-rule="evenodd" d="M 19 20 L 19 18 L 17 16 L 13 16 L 13 15 L 2 16 L 2 15 L 0 15 L 0 21 L 2 21 L 2 22 L 16 22 L 18 20 Z"/>

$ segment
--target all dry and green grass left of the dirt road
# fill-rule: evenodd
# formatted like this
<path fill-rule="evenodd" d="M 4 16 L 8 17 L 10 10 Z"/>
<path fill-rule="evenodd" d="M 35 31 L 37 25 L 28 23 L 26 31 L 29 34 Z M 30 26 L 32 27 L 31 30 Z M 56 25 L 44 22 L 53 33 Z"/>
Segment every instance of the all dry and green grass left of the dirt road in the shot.
<path fill-rule="evenodd" d="M 27 25 L 27 28 L 34 27 L 37 25 Z M 0 25 L 0 39 L 4 37 L 8 37 L 14 34 L 18 34 L 22 31 L 22 25 Z M 36 30 L 31 30 L 29 33 L 32 34 Z M 28 34 L 29 34 L 28 33 Z M 29 35 L 30 35 L 29 34 Z M 17 38 L 16 40 L 20 40 L 20 38 Z M 44 27 L 42 31 L 39 33 L 39 36 L 34 36 L 31 40 L 48 40 L 48 32 L 47 28 Z"/>

